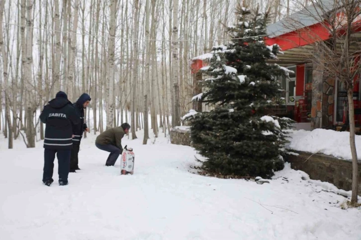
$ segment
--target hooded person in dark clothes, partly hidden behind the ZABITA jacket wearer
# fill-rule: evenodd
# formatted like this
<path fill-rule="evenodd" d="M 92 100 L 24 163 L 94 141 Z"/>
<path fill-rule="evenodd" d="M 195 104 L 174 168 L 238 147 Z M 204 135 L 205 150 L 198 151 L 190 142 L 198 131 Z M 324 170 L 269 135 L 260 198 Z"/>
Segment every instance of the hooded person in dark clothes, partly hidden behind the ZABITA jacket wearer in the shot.
<path fill-rule="evenodd" d="M 79 97 L 78 101 L 74 103 L 74 108 L 80 117 L 80 124 L 73 126 L 74 138 L 73 138 L 72 154 L 70 157 L 70 172 L 76 172 L 75 170 L 80 170 L 78 163 L 80 142 L 83 137 L 83 132 L 84 131 L 89 132 L 89 128 L 85 123 L 85 119 L 84 119 L 84 109 L 89 106 L 90 100 L 91 100 L 90 96 L 87 93 L 83 93 Z"/>

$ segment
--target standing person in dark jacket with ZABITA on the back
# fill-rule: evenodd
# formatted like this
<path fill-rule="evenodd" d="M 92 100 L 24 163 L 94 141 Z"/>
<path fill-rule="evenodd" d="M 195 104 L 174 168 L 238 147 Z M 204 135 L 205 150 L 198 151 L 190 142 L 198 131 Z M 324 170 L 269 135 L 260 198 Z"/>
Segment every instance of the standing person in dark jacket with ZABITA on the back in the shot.
<path fill-rule="evenodd" d="M 67 94 L 59 91 L 56 97 L 44 106 L 40 120 L 46 124 L 43 183 L 50 186 L 54 181 L 52 177 L 56 154 L 59 164 L 59 185 L 67 185 L 73 148 L 73 126 L 80 124 L 80 118 L 73 104 L 68 100 Z"/>

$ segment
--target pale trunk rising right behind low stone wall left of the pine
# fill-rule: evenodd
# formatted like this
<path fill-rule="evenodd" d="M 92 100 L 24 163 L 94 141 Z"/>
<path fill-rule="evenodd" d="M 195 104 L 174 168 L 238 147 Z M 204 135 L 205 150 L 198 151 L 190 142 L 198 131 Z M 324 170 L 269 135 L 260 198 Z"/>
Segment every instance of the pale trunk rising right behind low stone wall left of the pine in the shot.
<path fill-rule="evenodd" d="M 180 89 L 179 89 L 179 53 L 178 53 L 178 6 L 179 0 L 173 0 L 173 30 L 172 30 L 172 62 L 173 62 L 173 92 L 174 92 L 174 106 L 173 116 L 174 126 L 181 124 L 181 104 L 180 104 Z"/>

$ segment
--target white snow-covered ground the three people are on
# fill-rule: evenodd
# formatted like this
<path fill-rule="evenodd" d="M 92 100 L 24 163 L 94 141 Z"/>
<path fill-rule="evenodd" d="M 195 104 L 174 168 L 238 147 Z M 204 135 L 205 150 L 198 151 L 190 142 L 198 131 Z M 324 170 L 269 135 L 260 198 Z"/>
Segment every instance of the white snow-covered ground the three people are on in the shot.
<path fill-rule="evenodd" d="M 360 210 L 340 209 L 344 197 L 321 191 L 288 165 L 271 184 L 204 177 L 188 172 L 192 148 L 165 138 L 143 146 L 138 137 L 123 144 L 134 148 L 134 175 L 120 175 L 119 159 L 105 167 L 107 154 L 90 136 L 79 153 L 82 170 L 58 186 L 55 163 L 51 187 L 41 183 L 42 144 L 25 149 L 19 140 L 6 150 L 1 137 L 0 239 L 361 239 Z"/>

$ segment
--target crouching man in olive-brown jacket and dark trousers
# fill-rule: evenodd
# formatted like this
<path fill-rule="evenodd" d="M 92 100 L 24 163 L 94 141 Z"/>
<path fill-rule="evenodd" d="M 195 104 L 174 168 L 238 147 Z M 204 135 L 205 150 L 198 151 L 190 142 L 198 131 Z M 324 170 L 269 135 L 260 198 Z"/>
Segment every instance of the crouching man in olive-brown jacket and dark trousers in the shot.
<path fill-rule="evenodd" d="M 114 166 L 119 155 L 123 152 L 121 139 L 129 132 L 130 125 L 123 123 L 120 127 L 109 128 L 96 137 L 95 146 L 103 151 L 109 152 L 105 162 L 106 166 Z"/>

